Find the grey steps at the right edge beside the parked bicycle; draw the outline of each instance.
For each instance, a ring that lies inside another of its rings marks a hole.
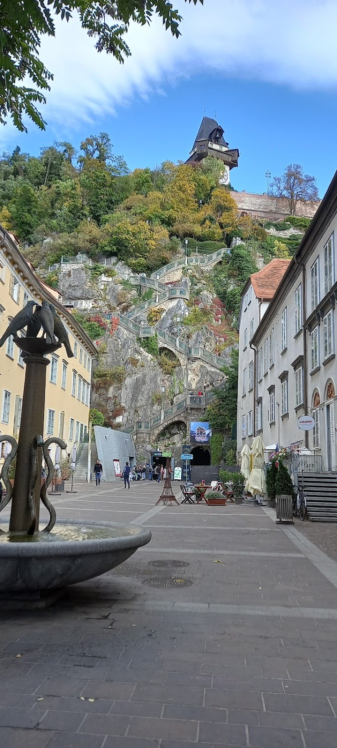
[[[308,519],[337,522],[337,473],[303,473]]]

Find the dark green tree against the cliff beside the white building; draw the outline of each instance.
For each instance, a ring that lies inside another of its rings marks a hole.
[[[208,405],[207,420],[215,431],[224,432],[231,429],[237,420],[237,373],[239,368],[239,351],[231,351],[231,364],[224,367],[225,387],[215,387],[215,399]]]

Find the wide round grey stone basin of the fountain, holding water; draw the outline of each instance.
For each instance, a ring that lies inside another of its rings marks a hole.
[[[0,590],[60,589],[105,574],[151,540],[151,531],[109,522],[61,522],[49,535],[0,536]]]

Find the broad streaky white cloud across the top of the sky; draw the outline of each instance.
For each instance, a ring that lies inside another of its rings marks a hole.
[[[58,21],[55,39],[41,45],[54,73],[43,111],[49,131],[71,133],[134,96],[163,94],[175,80],[201,71],[291,88],[336,87],[336,0],[176,4],[184,17],[182,37],[173,39],[158,20],[150,28],[133,25],[127,34],[132,57],[124,65],[98,54],[77,19]]]

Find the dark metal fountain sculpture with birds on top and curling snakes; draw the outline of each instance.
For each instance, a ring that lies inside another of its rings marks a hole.
[[[25,336],[19,331],[27,328]],[[38,337],[40,329],[43,333]],[[40,503],[49,512],[49,522],[42,530],[49,533],[55,525],[56,512],[46,496],[46,491],[54,476],[55,468],[49,456],[50,444],[58,444],[62,450],[67,444],[60,438],[51,437],[45,442],[43,432],[44,401],[46,389],[46,355],[55,352],[63,344],[67,355],[73,356],[67,330],[56,313],[54,304],[42,301],[28,301],[28,304],[11,320],[0,339],[0,347],[13,335],[14,343],[23,351],[25,358],[25,388],[22,397],[21,426],[19,443],[9,435],[2,435],[0,441],[8,441],[12,450],[4,460],[1,478],[7,492],[0,502],[0,512],[10,502],[10,533],[33,535],[38,532]],[[12,487],[8,479],[8,469],[16,460],[15,480]],[[46,482],[40,486],[41,463],[44,458],[48,468]],[[0,530],[2,533],[3,530]]]

